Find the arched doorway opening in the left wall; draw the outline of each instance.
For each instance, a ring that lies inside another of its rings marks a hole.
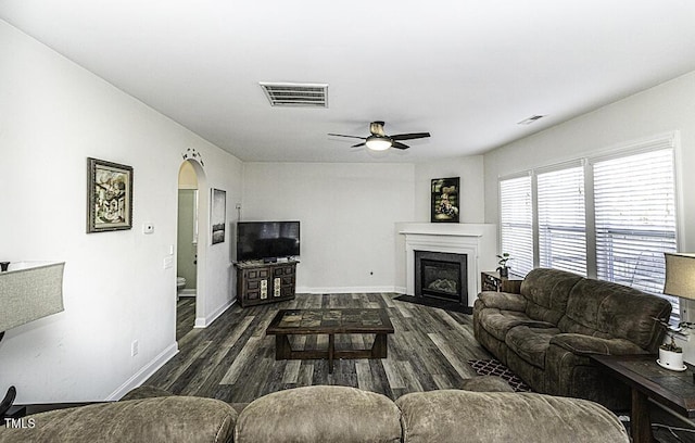
[[[176,340],[204,324],[205,245],[207,244],[207,199],[205,172],[195,160],[181,163],[178,174],[178,233],[176,254]]]

